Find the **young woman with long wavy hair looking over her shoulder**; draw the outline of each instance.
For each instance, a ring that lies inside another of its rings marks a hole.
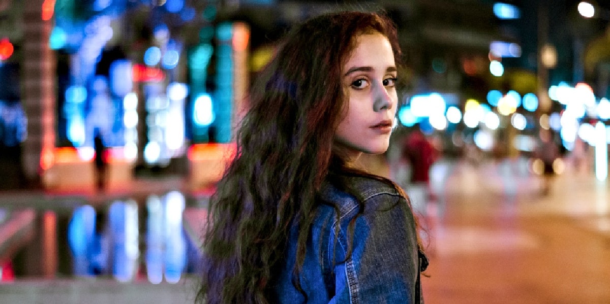
[[[409,201],[356,165],[389,145],[400,54],[377,13],[318,16],[285,38],[210,200],[198,300],[423,302]]]

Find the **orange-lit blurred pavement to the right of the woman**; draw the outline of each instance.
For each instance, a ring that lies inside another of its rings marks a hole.
[[[610,303],[609,182],[567,166],[545,196],[528,165],[437,165],[426,303]]]

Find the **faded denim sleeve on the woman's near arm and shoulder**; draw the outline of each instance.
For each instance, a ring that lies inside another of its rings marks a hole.
[[[403,197],[371,197],[364,212],[351,210],[339,224],[338,238],[329,238],[336,261],[330,303],[420,303],[415,222]]]

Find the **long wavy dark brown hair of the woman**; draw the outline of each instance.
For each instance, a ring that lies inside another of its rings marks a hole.
[[[343,64],[354,38],[374,32],[388,38],[400,62],[387,16],[327,13],[293,29],[253,85],[234,159],[210,198],[198,301],[268,303],[293,225],[303,265],[316,194],[329,172],[367,175],[346,167],[333,139],[346,108]]]

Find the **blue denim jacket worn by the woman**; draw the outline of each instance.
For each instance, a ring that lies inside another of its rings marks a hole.
[[[285,263],[274,283],[273,302],[423,303],[420,268],[425,269],[428,261],[418,250],[414,217],[406,199],[378,180],[346,179],[353,189],[359,189],[356,196],[329,183],[320,191],[328,205],[317,207],[307,240],[298,278],[303,292],[295,287],[298,233],[291,230]],[[364,211],[358,214],[362,206]]]

